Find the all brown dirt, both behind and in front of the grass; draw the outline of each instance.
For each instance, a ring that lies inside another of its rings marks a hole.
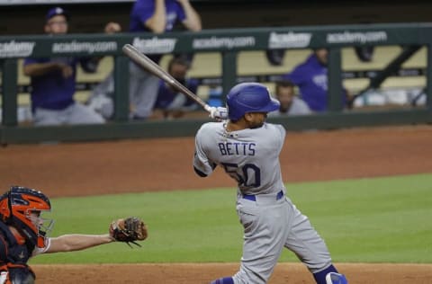
[[[432,173],[432,126],[289,133],[285,182]],[[50,197],[234,186],[221,171],[192,170],[193,138],[122,140],[0,148],[0,188],[43,189]],[[34,265],[39,283],[208,283],[238,263]],[[431,283],[430,264],[344,264],[350,283]],[[299,263],[279,263],[269,282],[314,283]]]

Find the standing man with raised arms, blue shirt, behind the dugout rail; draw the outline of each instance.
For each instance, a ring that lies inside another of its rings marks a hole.
[[[151,32],[161,34],[174,29],[175,22],[182,22],[189,31],[201,31],[199,14],[189,0],[137,0],[130,12],[131,32]],[[161,54],[151,54],[156,63]],[[147,119],[157,100],[159,80],[130,63],[130,106],[131,117],[135,120]]]

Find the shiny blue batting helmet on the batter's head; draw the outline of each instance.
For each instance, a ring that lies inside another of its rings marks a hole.
[[[228,117],[232,121],[241,119],[247,112],[276,111],[279,106],[264,84],[240,83],[227,95]]]

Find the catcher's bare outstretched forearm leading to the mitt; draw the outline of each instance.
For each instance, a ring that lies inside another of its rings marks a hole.
[[[100,244],[108,244],[114,240],[108,234],[106,235],[60,235],[50,240],[50,246],[47,253],[73,252],[85,250]]]

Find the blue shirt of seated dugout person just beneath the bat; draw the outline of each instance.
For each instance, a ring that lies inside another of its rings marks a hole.
[[[198,81],[194,79],[186,79],[186,81],[184,82],[184,86],[192,93],[196,93],[196,90],[198,89]],[[184,97],[184,102],[182,105],[173,105],[173,102],[175,101],[175,97],[177,95]],[[169,86],[165,84],[164,81],[160,81],[159,90],[157,92],[157,100],[155,102],[155,108],[166,110],[175,107],[189,107],[194,104],[196,104],[196,102],[193,101],[191,98],[184,96],[183,93],[173,91]]]

